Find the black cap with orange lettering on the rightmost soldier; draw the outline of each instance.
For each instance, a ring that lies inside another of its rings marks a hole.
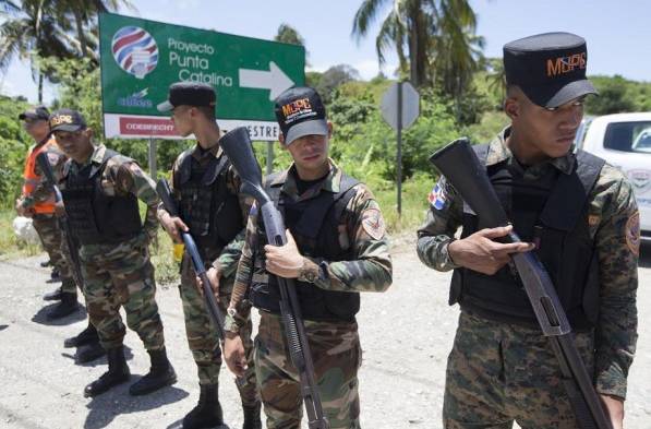
[[[506,83],[539,106],[554,108],[596,94],[586,78],[586,40],[571,33],[545,33],[504,45]]]

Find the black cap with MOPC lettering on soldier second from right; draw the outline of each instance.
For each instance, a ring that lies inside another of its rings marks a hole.
[[[309,86],[289,88],[276,98],[276,120],[285,145],[305,135],[328,135],[328,122],[321,96]]]

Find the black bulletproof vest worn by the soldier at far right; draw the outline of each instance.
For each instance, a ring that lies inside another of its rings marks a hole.
[[[474,146],[484,166],[487,148]],[[548,168],[542,178],[527,180],[506,162],[486,167],[514,229],[522,240],[537,243],[534,252],[550,274],[575,330],[590,329],[598,318],[598,255],[587,210],[588,196],[603,165],[603,159],[579,151],[570,175]],[[465,205],[461,238],[484,227]],[[521,281],[510,264],[491,276],[455,270],[450,305],[455,302],[489,319],[537,324]]]

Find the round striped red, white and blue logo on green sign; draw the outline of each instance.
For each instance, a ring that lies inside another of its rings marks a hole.
[[[141,27],[122,27],[113,35],[111,50],[116,62],[126,73],[143,79],[158,63],[158,46]]]

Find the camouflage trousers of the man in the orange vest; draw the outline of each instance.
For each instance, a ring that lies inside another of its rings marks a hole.
[[[68,260],[64,258],[61,243],[63,240],[61,228],[59,227],[59,221],[53,214],[35,214],[32,217],[32,224],[34,229],[38,233],[43,248],[48,253],[51,264],[56,267],[61,278],[61,290],[70,294],[76,294],[76,286],[72,282],[72,274]]]

